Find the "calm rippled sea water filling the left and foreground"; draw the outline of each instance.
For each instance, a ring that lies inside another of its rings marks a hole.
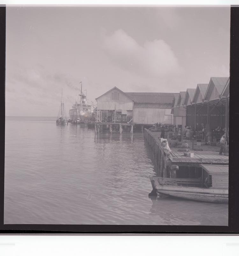
[[[228,205],[148,198],[142,133],[6,117],[4,224],[228,225]]]

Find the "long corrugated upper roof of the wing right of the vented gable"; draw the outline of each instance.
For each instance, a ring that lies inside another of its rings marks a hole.
[[[126,92],[136,103],[172,103],[172,92]]]

